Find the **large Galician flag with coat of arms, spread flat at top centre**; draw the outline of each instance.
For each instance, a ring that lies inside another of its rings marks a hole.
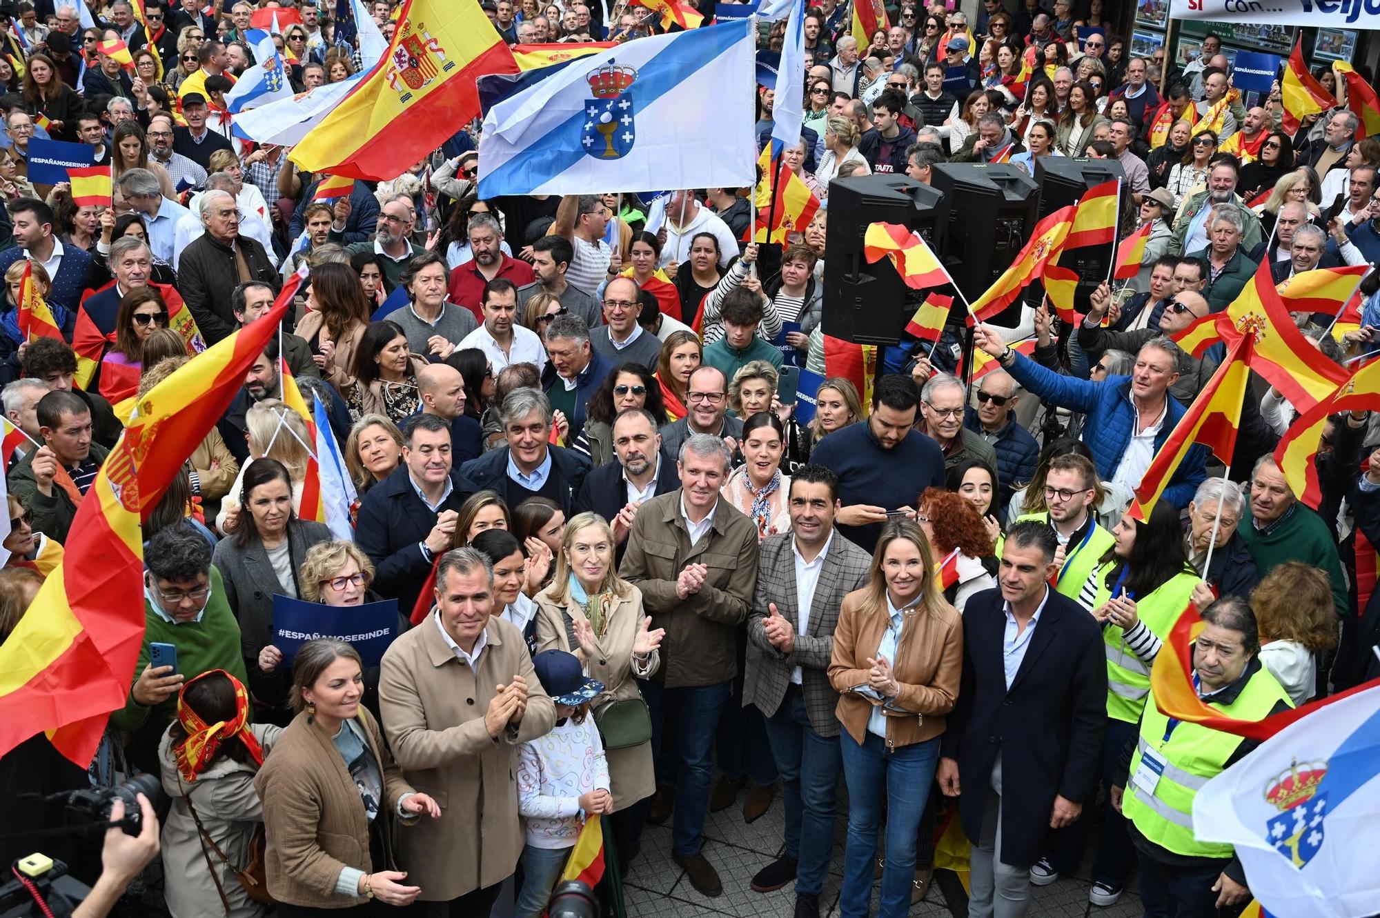
[[[701,26],[480,77],[480,98],[497,95],[480,197],[752,185],[752,28]]]

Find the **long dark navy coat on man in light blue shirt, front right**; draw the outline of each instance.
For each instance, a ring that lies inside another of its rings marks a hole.
[[[963,681],[943,737],[958,759],[959,817],[977,839],[998,754],[1002,769],[1002,863],[1045,856],[1054,797],[1093,802],[1107,731],[1107,664],[1096,619],[1049,590],[1025,657],[1006,688],[1000,590],[984,590],[963,611]],[[1010,753],[1010,755],[1005,755]]]

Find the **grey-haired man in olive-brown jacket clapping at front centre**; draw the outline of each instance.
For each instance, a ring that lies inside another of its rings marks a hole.
[[[758,582],[758,529],[719,498],[731,456],[723,440],[693,434],[680,447],[680,488],[642,504],[620,573],[642,590],[651,627],[665,629],[661,669],[642,682],[651,711],[651,754],[676,711],[672,857],[705,896],[723,885],[700,853],[709,809],[713,736],[737,675],[737,631]]]

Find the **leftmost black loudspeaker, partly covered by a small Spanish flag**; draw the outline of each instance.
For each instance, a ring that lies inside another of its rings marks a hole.
[[[829,223],[824,247],[824,334],[856,345],[896,345],[909,316],[890,259],[869,265],[862,237],[871,223],[915,230],[944,258],[948,200],[907,175],[860,175],[829,182]],[[914,313],[914,307],[911,310]]]

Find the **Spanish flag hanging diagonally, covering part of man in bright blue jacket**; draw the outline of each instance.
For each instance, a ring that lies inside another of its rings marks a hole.
[[[1136,500],[1127,510],[1133,520],[1150,520],[1159,496],[1194,444],[1208,447],[1225,465],[1231,465],[1236,430],[1241,427],[1241,407],[1250,383],[1250,338],[1236,339],[1212,379],[1194,398],[1194,404],[1188,405],[1188,411],[1174,425],[1165,445],[1155,453],[1136,488]]]

